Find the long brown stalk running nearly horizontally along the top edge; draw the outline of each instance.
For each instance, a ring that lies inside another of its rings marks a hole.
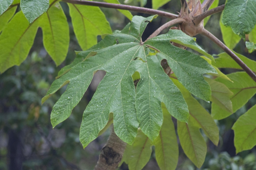
[[[152,15],[157,14],[159,16],[167,17],[170,19],[178,18],[178,15],[172,14],[170,12],[153,10],[153,9],[143,8],[143,7],[138,7],[138,6],[123,5],[123,4],[111,4],[111,3],[96,2],[96,1],[81,1],[81,0],[62,0],[62,1],[66,2],[66,3],[71,3],[71,4],[99,6],[99,7],[105,7],[105,8],[115,8],[115,9],[121,9],[121,10],[129,10],[129,11],[147,13],[147,14],[152,14]]]

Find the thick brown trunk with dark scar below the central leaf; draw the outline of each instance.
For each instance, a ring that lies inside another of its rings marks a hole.
[[[115,170],[121,162],[126,143],[114,132],[113,124],[107,143],[103,146],[94,170]]]

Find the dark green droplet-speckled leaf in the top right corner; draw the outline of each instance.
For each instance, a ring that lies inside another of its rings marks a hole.
[[[222,23],[231,27],[237,35],[245,37],[256,24],[256,1],[228,0],[223,11]]]

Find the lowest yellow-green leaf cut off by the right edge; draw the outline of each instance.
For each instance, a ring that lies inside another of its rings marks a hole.
[[[236,153],[252,149],[256,145],[256,105],[240,116],[232,129]]]

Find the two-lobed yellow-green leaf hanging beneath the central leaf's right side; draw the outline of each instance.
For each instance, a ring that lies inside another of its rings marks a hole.
[[[211,115],[191,96],[187,89],[178,80],[172,81],[182,92],[188,104],[189,119],[188,124],[178,122],[178,135],[182,149],[188,158],[200,168],[206,155],[206,143],[199,128],[202,128],[205,135],[217,146],[219,143],[219,130]]]

